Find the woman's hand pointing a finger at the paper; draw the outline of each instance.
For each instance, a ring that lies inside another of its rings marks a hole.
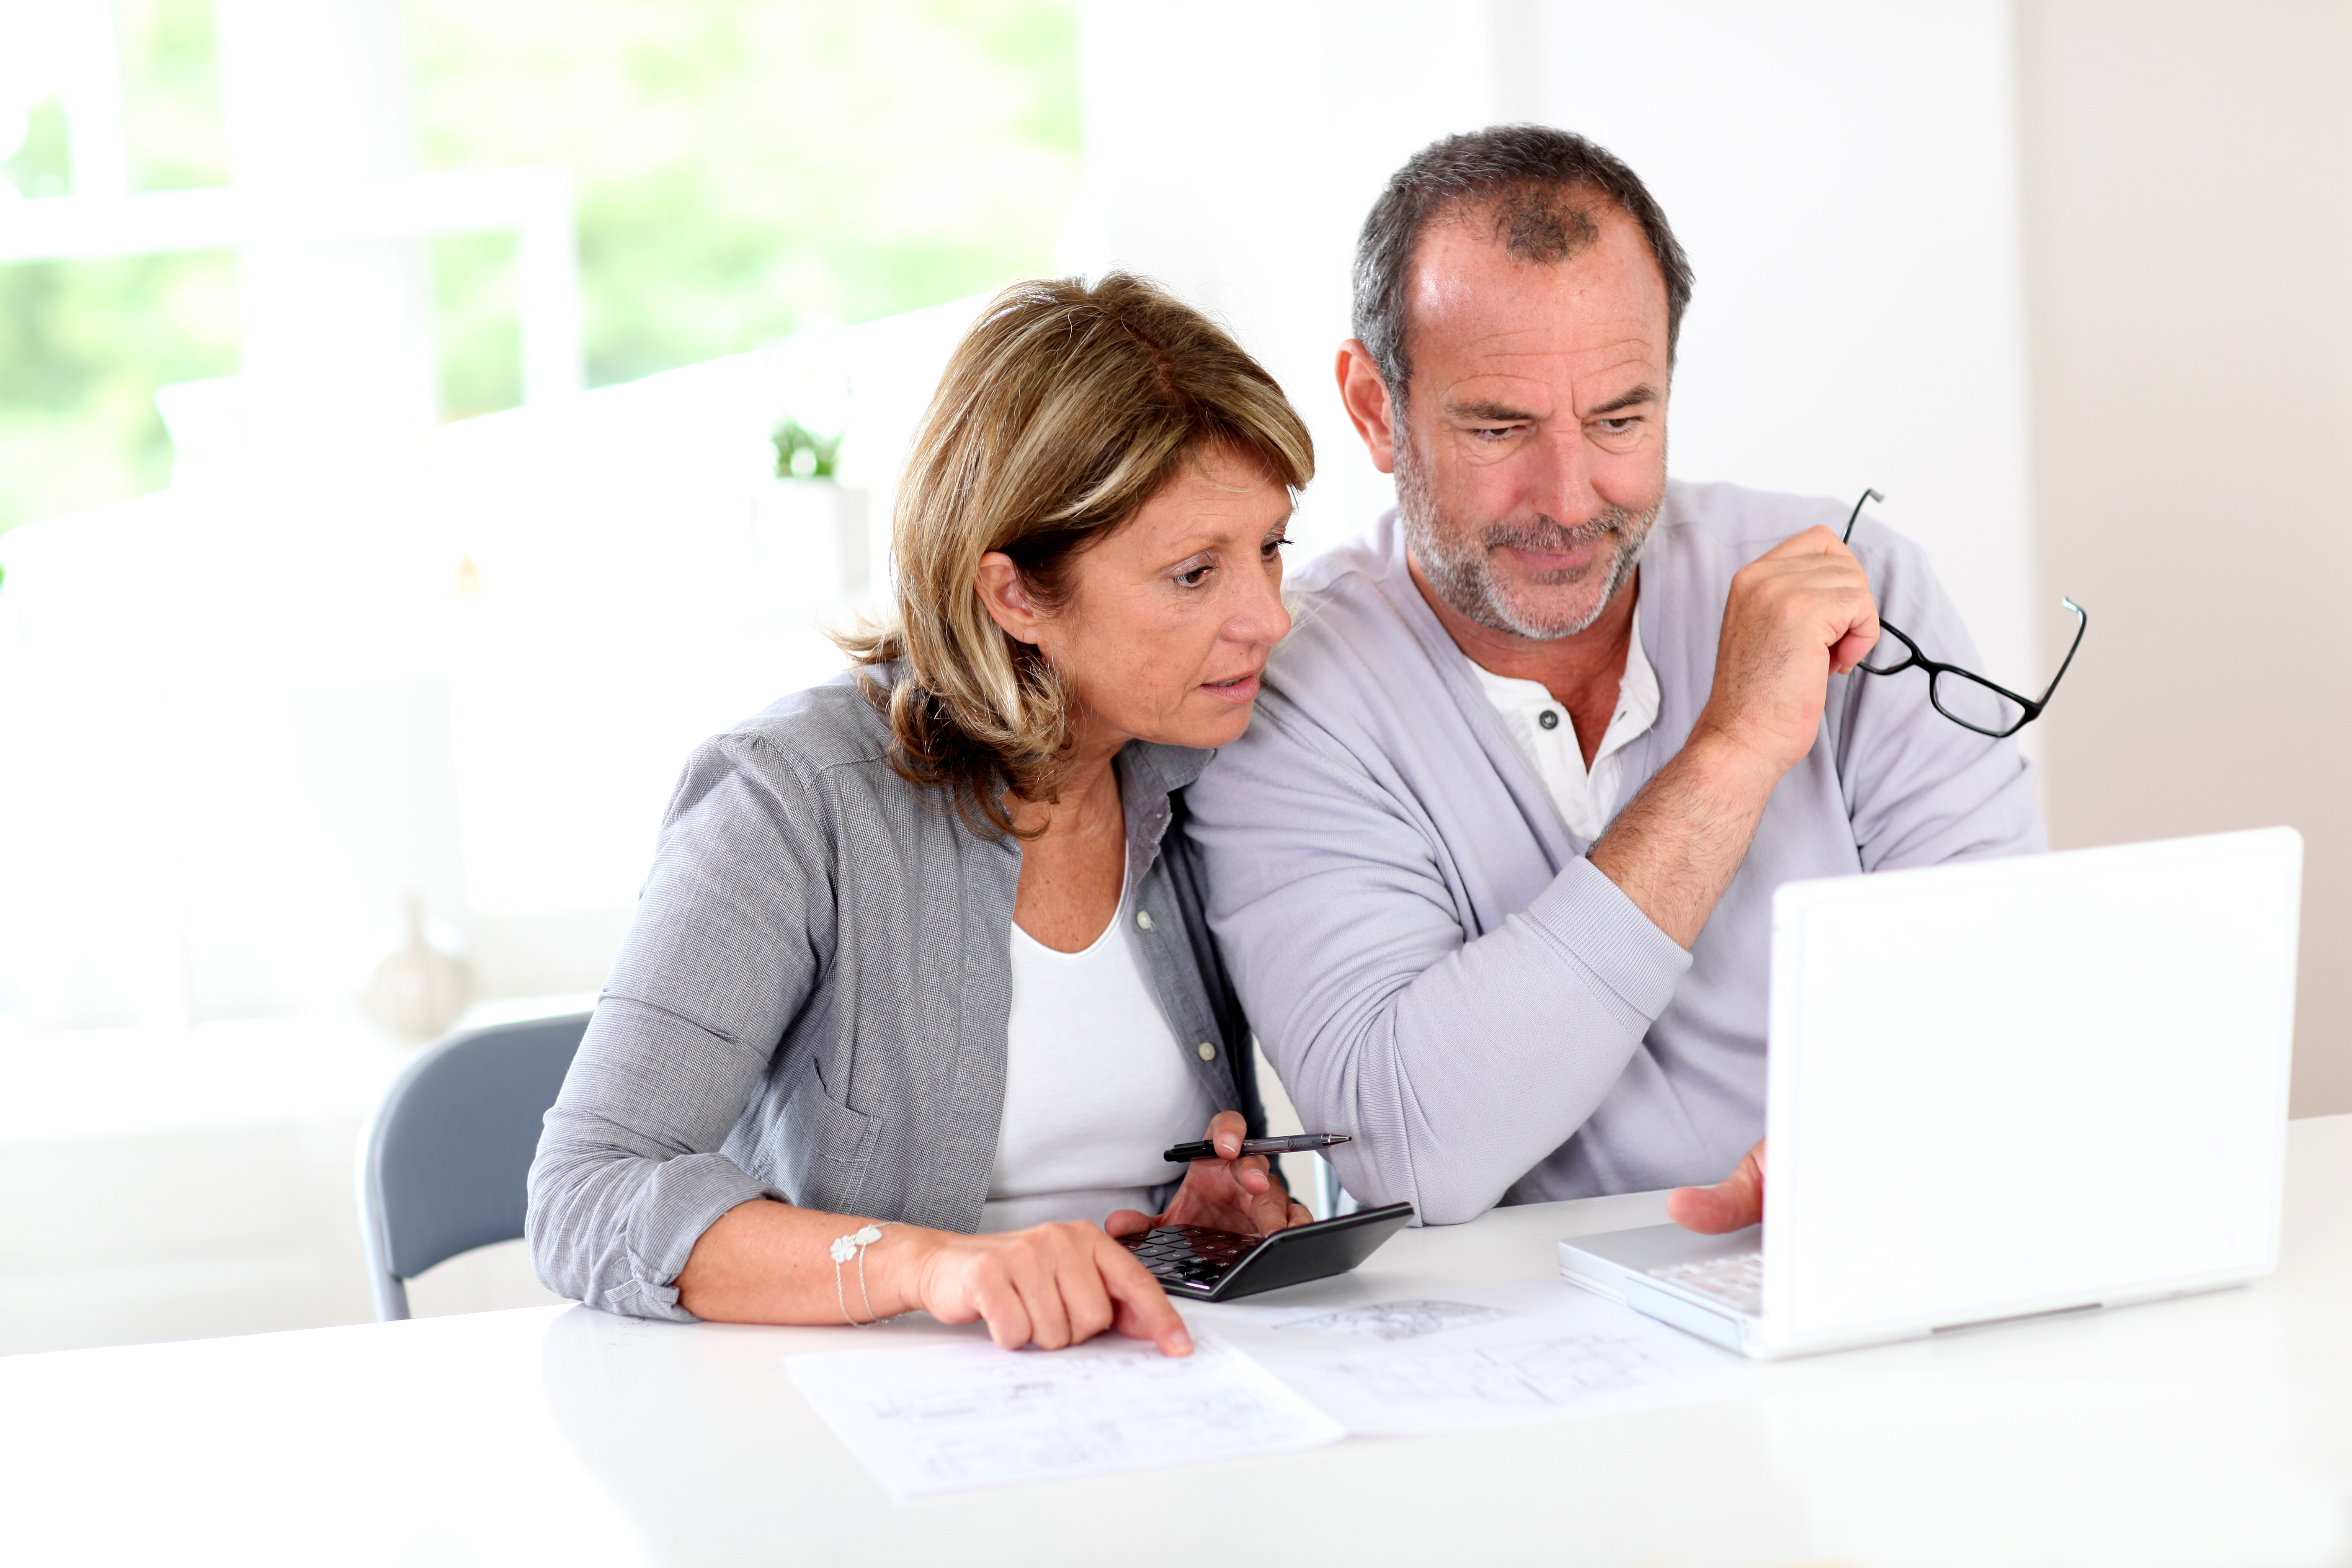
[[[901,1248],[889,1258],[884,1246],[894,1234]],[[882,1237],[873,1262],[889,1267],[896,1300],[941,1324],[988,1319],[988,1338],[1004,1349],[1061,1349],[1115,1328],[1169,1356],[1192,1354],[1192,1335],[1160,1281],[1096,1225],[1033,1225],[990,1237],[891,1227]]]

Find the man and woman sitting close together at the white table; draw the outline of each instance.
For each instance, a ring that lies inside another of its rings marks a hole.
[[[1115,1237],[1308,1218],[1237,1157],[1251,1037],[1367,1204],[1752,1222],[1773,886],[2042,825],[2009,741],[1853,670],[1879,607],[1973,658],[1917,548],[1665,477],[1689,296],[1590,141],[1421,150],[1338,353],[1397,510],[1284,592],[1275,381],[1134,277],[1007,289],[915,437],[898,614],[687,764],[532,1166],[541,1279],[1181,1354]]]

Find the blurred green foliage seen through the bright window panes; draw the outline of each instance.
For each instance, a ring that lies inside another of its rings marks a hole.
[[[572,169],[590,386],[1040,273],[1077,190],[1068,0],[402,12],[419,169]],[[115,21],[132,188],[226,183],[212,0]],[[0,179],[64,195],[64,108],[24,129]],[[442,416],[520,402],[513,237],[430,256]],[[235,256],[0,266],[0,529],[169,484],[155,388],[235,371]]]

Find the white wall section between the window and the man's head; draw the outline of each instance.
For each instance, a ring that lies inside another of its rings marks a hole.
[[[1056,263],[1218,313],[1315,433],[1296,538],[1355,534],[1392,501],[1331,390],[1355,230],[1414,148],[1494,118],[1486,9],[1087,0],[1080,21],[1087,183]]]

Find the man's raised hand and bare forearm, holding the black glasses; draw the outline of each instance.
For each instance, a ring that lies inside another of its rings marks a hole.
[[[1642,785],[1588,860],[1689,947],[1748,858],[1780,776],[1813,750],[1830,675],[1877,646],[1870,578],[1830,529],[1740,567],[1724,602],[1715,689],[1682,750]]]

